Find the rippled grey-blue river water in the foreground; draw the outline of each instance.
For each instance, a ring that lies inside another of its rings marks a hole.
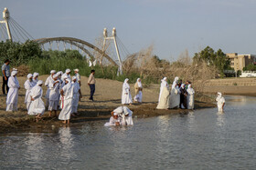
[[[0,169],[255,169],[256,98],[217,108],[0,135]]]

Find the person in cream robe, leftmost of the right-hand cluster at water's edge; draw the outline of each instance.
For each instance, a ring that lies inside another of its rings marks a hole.
[[[169,101],[170,101],[170,91],[169,85],[166,82],[167,78],[165,77],[162,79],[161,87],[160,87],[160,95],[158,99],[158,105],[156,109],[168,109],[169,108]]]

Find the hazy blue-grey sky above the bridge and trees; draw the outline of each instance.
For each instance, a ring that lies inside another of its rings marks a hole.
[[[70,36],[91,44],[116,27],[130,54],[154,45],[174,61],[207,45],[256,55],[256,0],[0,0],[35,39]]]

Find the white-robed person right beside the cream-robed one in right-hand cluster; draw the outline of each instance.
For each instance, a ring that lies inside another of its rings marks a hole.
[[[180,103],[180,91],[177,85],[178,77],[176,76],[172,89],[171,89],[171,96],[170,96],[170,105],[169,108],[179,108]]]

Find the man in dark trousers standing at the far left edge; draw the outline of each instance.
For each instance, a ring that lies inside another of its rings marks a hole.
[[[2,65],[2,75],[3,75],[3,85],[2,85],[2,90],[3,90],[3,95],[6,95],[9,91],[8,87],[8,78],[10,76],[10,60],[6,59],[5,64]],[[5,86],[6,86],[6,93],[5,93]]]

